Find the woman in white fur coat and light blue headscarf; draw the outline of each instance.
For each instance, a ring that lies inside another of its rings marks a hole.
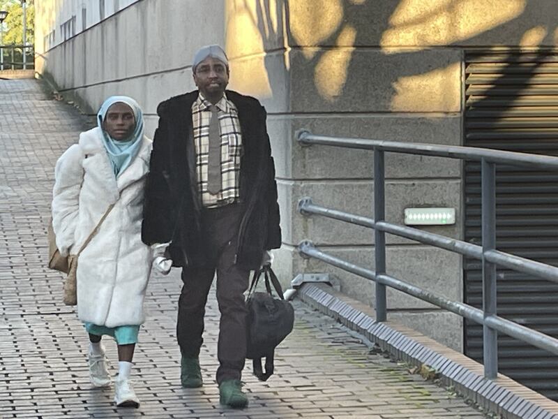
[[[66,256],[100,223],[77,263],[77,316],[89,333],[89,376],[96,387],[110,385],[101,337],[113,337],[119,356],[114,402],[137,407],[130,370],[153,257],[140,237],[151,140],[140,106],[126,96],[108,98],[97,123],[56,163],[52,226]]]

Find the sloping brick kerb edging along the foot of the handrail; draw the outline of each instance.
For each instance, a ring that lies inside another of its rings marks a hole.
[[[492,381],[483,365],[398,322],[377,322],[374,309],[331,286],[303,284],[296,295],[313,309],[377,344],[393,358],[414,367],[426,365],[444,385],[504,419],[558,419],[558,403],[508,376]]]

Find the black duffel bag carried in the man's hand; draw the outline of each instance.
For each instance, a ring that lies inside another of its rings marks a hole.
[[[255,292],[259,277],[264,275],[266,291]],[[274,298],[271,284],[279,298]],[[248,347],[246,358],[252,360],[253,373],[259,381],[266,381],[273,374],[273,355],[275,348],[289,335],[294,325],[294,309],[285,301],[281,285],[271,266],[264,265],[254,272],[248,297]],[[265,372],[262,371],[262,358],[266,358]]]

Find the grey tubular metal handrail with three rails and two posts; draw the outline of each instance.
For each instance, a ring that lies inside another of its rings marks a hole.
[[[374,214],[375,218],[349,214],[340,210],[322,207],[312,203],[310,198],[299,201],[299,212],[303,215],[315,214],[347,223],[373,228],[375,231],[375,267],[376,270],[354,265],[340,258],[328,255],[317,249],[312,242],[299,244],[302,256],[317,258],[330,265],[340,267],[361,277],[371,279],[376,284],[376,320],[386,321],[386,286],[412,295],[420,300],[435,304],[437,307],[469,318],[483,325],[483,360],[486,378],[496,378],[498,373],[497,332],[515,337],[538,348],[558,355],[558,339],[536,330],[526,328],[513,321],[506,320],[496,314],[496,265],[512,270],[533,274],[536,277],[558,283],[558,267],[539,263],[534,260],[505,253],[495,249],[496,243],[496,163],[531,168],[558,170],[558,157],[540,156],[517,152],[506,152],[495,149],[477,149],[474,147],[443,146],[433,144],[415,144],[365,138],[337,138],[326,135],[315,135],[310,131],[301,130],[296,133],[297,140],[303,146],[329,145],[333,147],[371,149],[374,151]],[[483,245],[477,246],[455,240],[451,237],[425,232],[417,228],[401,226],[384,220],[385,215],[385,168],[384,152],[418,154],[425,156],[446,157],[481,161],[481,201],[482,201],[482,237]],[[386,274],[386,242],[385,233],[406,237],[424,244],[460,253],[482,261],[483,264],[483,309],[476,309],[462,302],[448,300],[442,295],[431,293],[405,281]]]

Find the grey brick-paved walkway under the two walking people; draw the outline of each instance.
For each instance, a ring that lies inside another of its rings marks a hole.
[[[90,123],[52,101],[34,80],[0,80],[0,417],[1,418],[483,418],[459,397],[370,351],[330,318],[294,302],[294,332],[280,346],[276,375],[244,374],[250,406],[218,403],[218,311],[212,294],[201,362],[205,385],[179,385],[175,341],[179,272],[154,277],[149,321],[134,374],[140,409],[112,404],[92,389],[87,340],[75,312],[60,302],[61,277],[45,269],[56,158]],[[117,367],[116,348],[105,345]]]

